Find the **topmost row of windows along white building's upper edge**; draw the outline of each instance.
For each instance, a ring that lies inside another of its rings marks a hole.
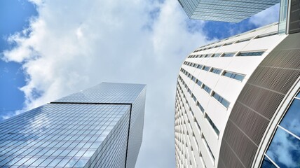
[[[246,32],[246,33],[247,33],[247,32]],[[263,38],[263,37],[267,37],[267,36],[273,36],[273,35],[276,35],[276,34],[278,34],[277,31],[276,31],[276,32],[272,32],[272,33],[268,33],[268,34],[261,34],[261,35],[254,36],[254,37],[251,37],[251,38],[244,38],[244,39],[240,39],[240,40],[238,40],[238,41],[233,41],[233,42],[229,42],[229,43],[218,44],[218,45],[210,46],[210,47],[208,47],[208,48],[203,48],[203,47],[207,46],[207,45],[204,45],[204,46],[200,47],[199,49],[194,50],[193,52],[198,52],[198,51],[203,51],[203,50],[209,50],[209,49],[211,49],[211,48],[218,48],[218,47],[221,47],[221,46],[224,46],[224,45],[230,45],[230,44],[234,44],[234,43],[241,43],[241,42],[245,42],[245,41],[250,41],[250,40],[252,40],[252,39]],[[233,36],[232,38],[236,38],[236,37],[237,37],[237,36]],[[223,41],[227,41],[227,40],[229,40],[229,39],[230,39],[230,38],[226,38],[226,39],[224,39]],[[215,42],[215,43],[219,43],[219,42],[221,42],[221,41],[217,41],[217,42]],[[212,44],[214,44],[214,43],[212,43]],[[208,45],[212,45],[212,44],[208,44]]]

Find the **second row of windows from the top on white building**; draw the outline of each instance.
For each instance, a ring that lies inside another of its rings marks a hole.
[[[261,56],[264,54],[264,51],[255,51],[255,52],[221,52],[214,54],[204,54],[204,55],[189,55],[188,58],[200,58],[200,57],[245,57],[245,56]]]

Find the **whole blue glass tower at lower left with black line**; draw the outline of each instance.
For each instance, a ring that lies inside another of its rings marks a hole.
[[[101,83],[0,123],[0,167],[135,167],[146,86]]]

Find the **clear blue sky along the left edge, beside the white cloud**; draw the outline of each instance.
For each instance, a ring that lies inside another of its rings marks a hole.
[[[15,32],[29,26],[29,18],[37,15],[34,4],[28,1],[0,1],[0,52],[13,48],[6,39]],[[23,108],[25,95],[18,88],[25,85],[22,64],[4,62],[0,59],[0,110],[1,116],[11,116],[15,110]],[[2,117],[0,117],[0,120]]]

